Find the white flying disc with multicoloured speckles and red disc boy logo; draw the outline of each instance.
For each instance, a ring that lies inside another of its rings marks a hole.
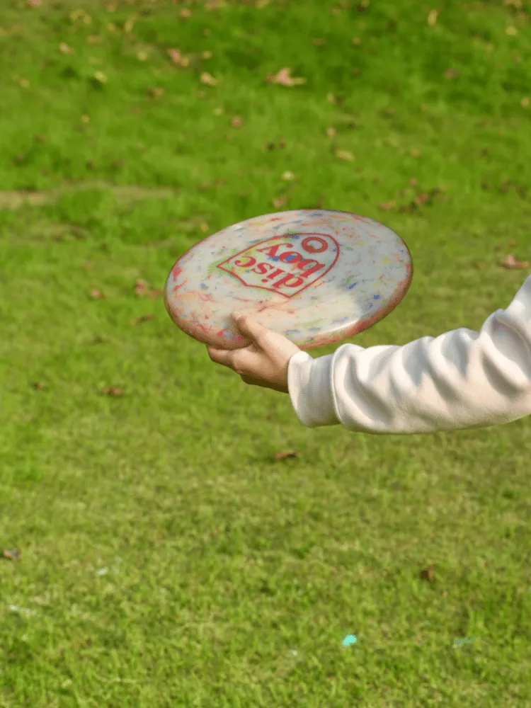
[[[392,312],[413,264],[404,241],[367,217],[296,210],[248,219],[186,251],[166,280],[166,309],[196,340],[249,344],[239,310],[307,350],[347,339]]]

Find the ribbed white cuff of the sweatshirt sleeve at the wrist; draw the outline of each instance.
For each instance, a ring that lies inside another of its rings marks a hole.
[[[333,403],[331,367],[333,354],[312,358],[299,351],[287,368],[287,388],[297,418],[307,428],[340,423]]]

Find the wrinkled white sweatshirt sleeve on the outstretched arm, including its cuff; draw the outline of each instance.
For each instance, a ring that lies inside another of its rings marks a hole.
[[[288,389],[309,428],[411,435],[488,428],[531,414],[531,276],[479,332],[456,329],[404,346],[343,344],[290,359]]]

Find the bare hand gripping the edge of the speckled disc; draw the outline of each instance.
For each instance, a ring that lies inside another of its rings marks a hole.
[[[228,366],[252,386],[263,386],[287,394],[287,365],[299,347],[289,339],[266,329],[256,319],[233,312],[232,319],[239,332],[251,341],[241,349],[226,350],[207,346],[212,361]]]

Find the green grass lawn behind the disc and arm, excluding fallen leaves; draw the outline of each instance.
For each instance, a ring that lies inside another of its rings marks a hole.
[[[134,287],[284,198],[408,244],[357,343],[478,329],[531,258],[530,6],[206,5],[2,3],[0,706],[531,706],[530,421],[304,428]]]

